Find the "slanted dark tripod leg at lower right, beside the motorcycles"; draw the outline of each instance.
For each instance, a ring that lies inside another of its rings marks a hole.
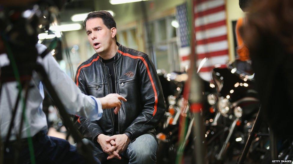
[[[248,136],[248,139],[246,141],[244,150],[243,150],[243,152],[241,154],[241,157],[240,157],[240,160],[239,160],[238,164],[244,163],[246,155],[247,155],[248,150],[249,150],[249,147],[250,147],[250,145],[251,145],[251,143],[252,143],[252,141],[254,139],[254,136],[259,131],[259,128],[261,126],[261,122],[262,122],[262,116],[261,116],[261,107],[260,107],[259,110],[258,110],[258,114],[257,114],[257,116],[255,118],[255,122],[253,124],[253,127],[251,129],[251,132],[250,132],[250,134]]]

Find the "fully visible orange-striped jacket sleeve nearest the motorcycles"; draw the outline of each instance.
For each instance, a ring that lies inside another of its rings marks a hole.
[[[165,114],[162,86],[153,62],[146,56],[140,65],[140,96],[143,109],[125,132],[131,140],[156,128]]]

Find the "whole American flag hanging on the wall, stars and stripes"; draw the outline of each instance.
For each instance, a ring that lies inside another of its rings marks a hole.
[[[186,4],[177,6],[177,20],[181,45],[178,51],[181,67],[184,67],[190,63]],[[201,66],[199,75],[211,81],[213,68],[224,68],[228,60],[225,0],[195,0],[194,21],[197,66]],[[203,60],[206,62],[203,63]]]

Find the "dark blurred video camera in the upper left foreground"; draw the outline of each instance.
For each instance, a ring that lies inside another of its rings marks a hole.
[[[5,52],[8,54],[10,64],[1,68],[2,81],[15,80],[12,65],[17,66],[21,79],[31,76],[38,57],[35,45],[38,34],[49,30],[51,22],[56,21],[58,11],[68,0],[40,0],[29,1],[12,0],[0,6],[0,31]],[[50,48],[50,47],[49,47]],[[48,51],[42,54],[44,57]],[[15,69],[15,68],[14,68]]]

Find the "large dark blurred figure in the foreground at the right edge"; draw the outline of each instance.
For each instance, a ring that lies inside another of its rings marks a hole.
[[[270,130],[278,137],[292,137],[293,1],[254,1],[243,37]]]

